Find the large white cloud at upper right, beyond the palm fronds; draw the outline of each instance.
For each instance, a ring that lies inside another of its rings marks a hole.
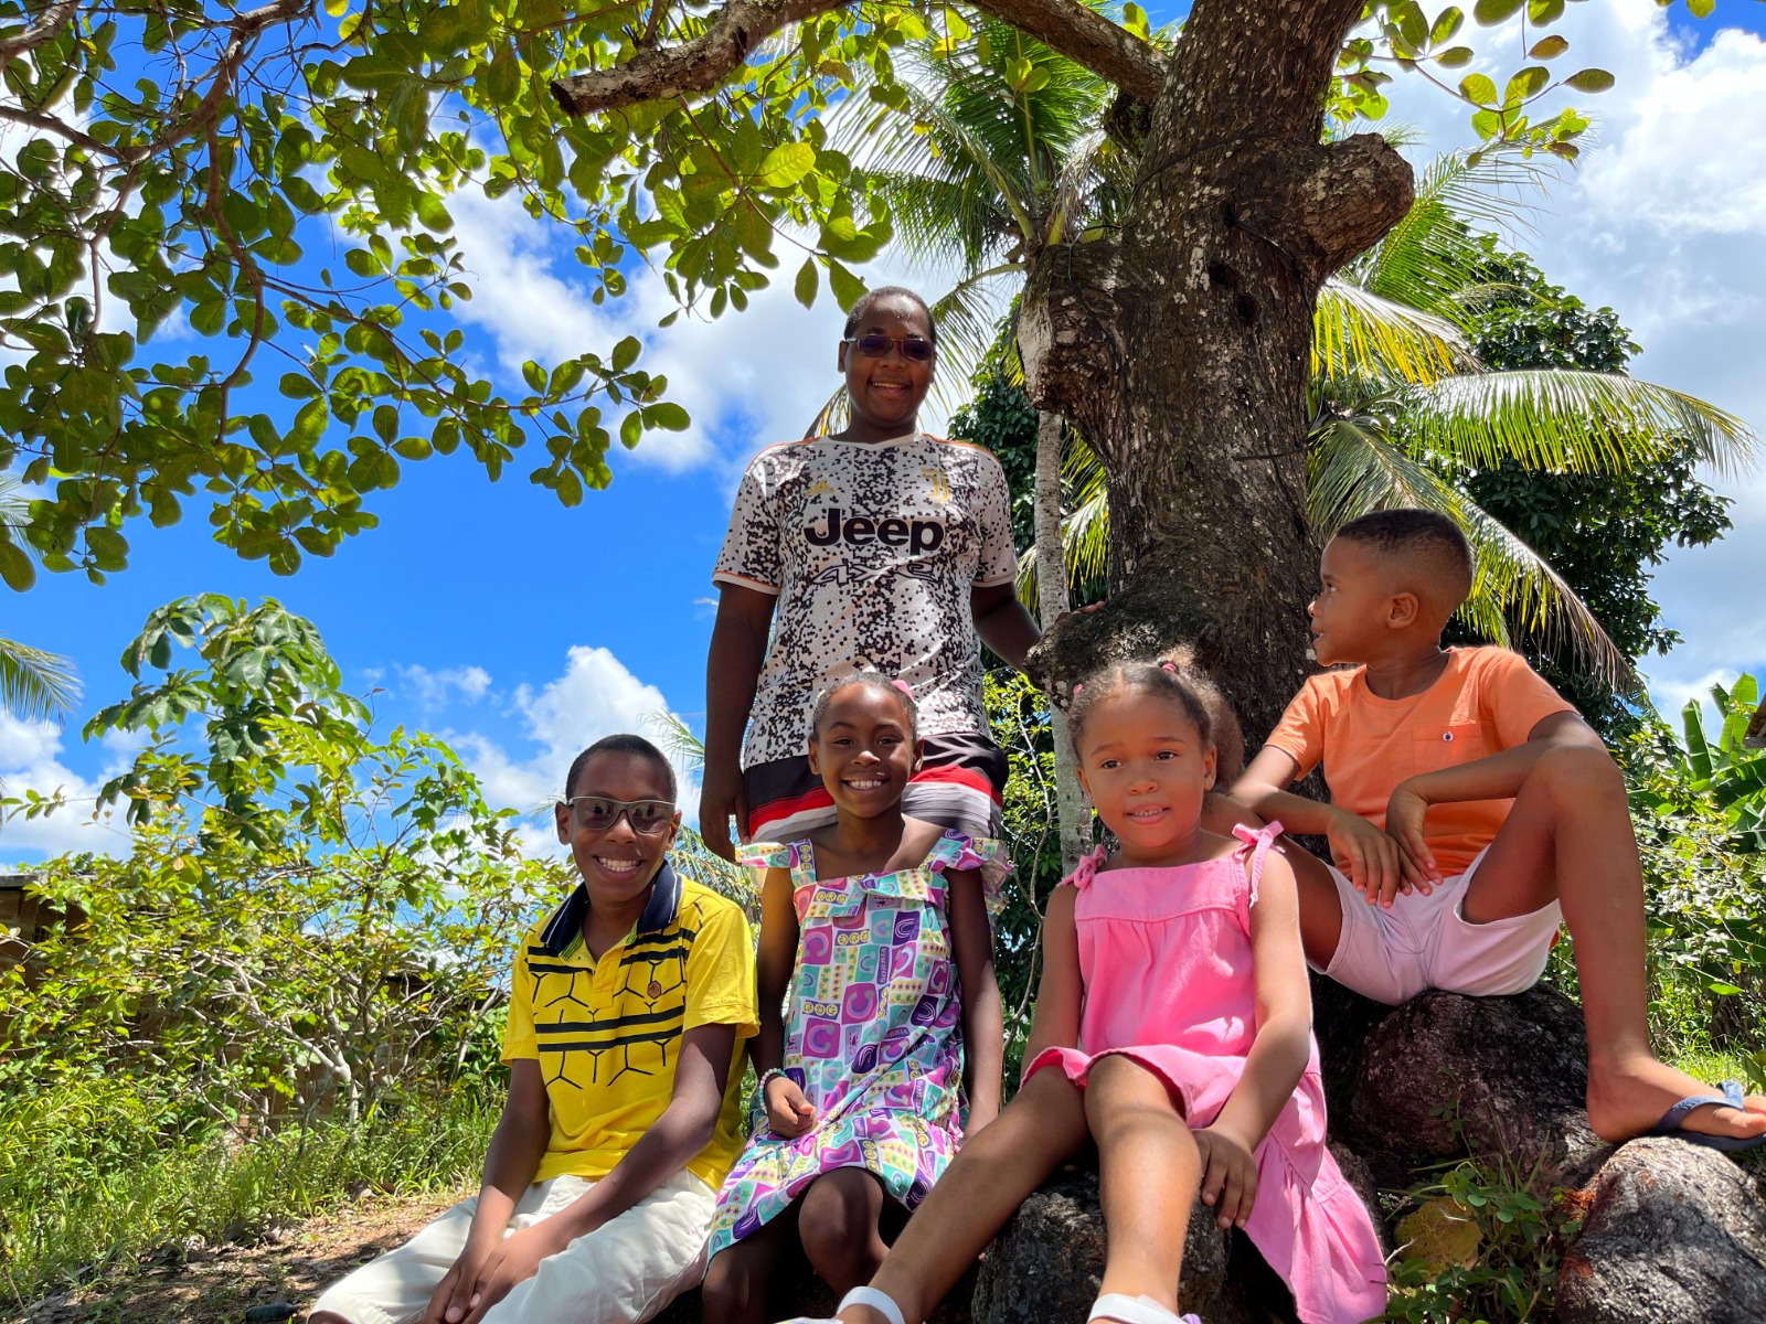
[[[1618,87],[1568,97],[1596,117],[1593,141],[1517,244],[1551,281],[1618,311],[1644,346],[1635,376],[1766,433],[1766,42],[1715,30],[1694,53],[1651,0],[1572,5],[1554,30],[1570,39],[1559,72],[1596,65]],[[1485,53],[1521,49],[1512,26],[1475,35]],[[1413,159],[1476,141],[1466,108],[1422,79],[1400,78],[1388,92],[1393,120],[1429,134]],[[1685,637],[1648,664],[1671,708],[1715,674],[1766,664],[1766,478],[1755,470],[1708,480],[1736,498],[1734,531],[1717,547],[1671,549],[1653,588],[1664,620]]]

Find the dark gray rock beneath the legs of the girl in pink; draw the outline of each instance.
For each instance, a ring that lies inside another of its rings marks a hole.
[[[1226,1301],[1231,1241],[1201,1200],[1183,1245],[1178,1301],[1208,1324],[1241,1319]],[[994,1237],[975,1283],[975,1324],[1083,1324],[1104,1278],[1104,1211],[1097,1172],[1065,1172],[1038,1190]]]

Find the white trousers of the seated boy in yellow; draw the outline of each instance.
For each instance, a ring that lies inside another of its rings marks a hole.
[[[533,1183],[503,1236],[549,1218],[593,1185],[588,1177]],[[464,1250],[477,1207],[477,1195],[461,1200],[328,1289],[313,1310],[351,1324],[417,1319]],[[540,1260],[539,1273],[491,1306],[484,1324],[641,1324],[699,1285],[715,1207],[717,1192],[685,1169],[676,1172],[618,1218]]]

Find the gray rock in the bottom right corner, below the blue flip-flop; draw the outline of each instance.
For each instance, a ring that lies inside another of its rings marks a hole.
[[[1766,1320],[1766,1202],[1724,1155],[1632,1140],[1591,1195],[1558,1273],[1559,1324]]]

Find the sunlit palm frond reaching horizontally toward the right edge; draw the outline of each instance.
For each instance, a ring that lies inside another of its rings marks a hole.
[[[1609,372],[1460,374],[1399,387],[1392,404],[1397,436],[1480,468],[1512,457],[1542,470],[1614,473],[1683,441],[1724,475],[1754,463],[1754,433],[1736,415]]]

